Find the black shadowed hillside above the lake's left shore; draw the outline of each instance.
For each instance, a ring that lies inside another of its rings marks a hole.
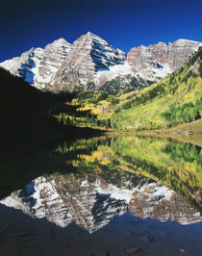
[[[0,68],[0,113],[1,135],[3,139],[54,138],[59,135],[76,133],[76,137],[91,130],[74,128],[59,123],[55,115],[65,109],[73,115],[75,108],[64,103],[72,99],[73,94],[53,94],[41,92]]]

